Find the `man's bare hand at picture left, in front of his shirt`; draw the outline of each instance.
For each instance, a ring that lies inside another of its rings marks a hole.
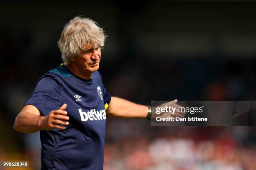
[[[41,128],[44,130],[52,130],[55,128],[64,130],[65,126],[69,125],[69,117],[67,116],[67,104],[62,105],[58,110],[52,110],[49,115],[41,120]]]

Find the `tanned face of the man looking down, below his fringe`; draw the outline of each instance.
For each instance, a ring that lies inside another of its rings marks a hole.
[[[80,56],[72,58],[71,61],[83,74],[92,73],[99,69],[100,55],[100,46],[95,48],[93,45],[84,45]]]

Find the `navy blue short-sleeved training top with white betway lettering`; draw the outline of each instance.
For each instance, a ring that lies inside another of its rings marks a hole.
[[[26,105],[43,115],[67,103],[69,125],[65,130],[41,130],[42,170],[102,170],[106,112],[110,94],[99,72],[82,79],[61,65],[37,82]]]

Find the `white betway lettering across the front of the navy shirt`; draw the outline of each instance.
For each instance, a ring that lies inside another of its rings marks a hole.
[[[91,111],[83,112],[82,109],[78,109],[82,122],[86,122],[89,120],[102,120],[106,119],[105,110],[96,111],[95,109],[91,109]]]

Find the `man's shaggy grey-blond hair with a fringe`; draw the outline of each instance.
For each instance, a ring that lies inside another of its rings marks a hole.
[[[69,58],[79,55],[84,45],[103,47],[105,37],[103,29],[94,20],[75,17],[64,26],[58,41],[62,60],[69,63]]]

